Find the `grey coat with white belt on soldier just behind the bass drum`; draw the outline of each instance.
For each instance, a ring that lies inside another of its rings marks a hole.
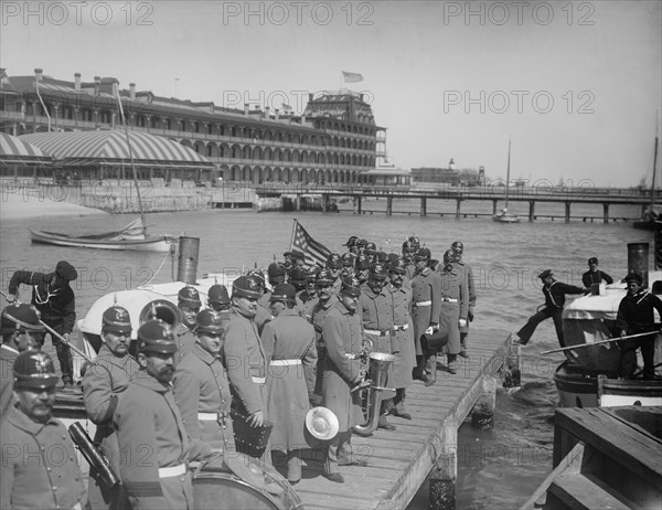
[[[234,451],[232,395],[221,359],[196,343],[178,365],[173,383],[174,402],[189,437]],[[199,419],[197,413],[217,414],[218,419]]]

